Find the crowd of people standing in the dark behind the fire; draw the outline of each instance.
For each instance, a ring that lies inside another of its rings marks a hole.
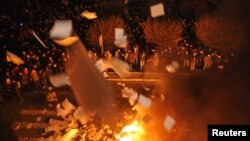
[[[1,52],[8,50],[8,48],[14,48],[13,50],[20,52],[18,55],[25,62],[23,65],[15,65],[10,62],[7,63],[5,69],[6,75],[3,77],[5,80],[2,81],[4,83],[1,84],[1,91],[12,93],[11,91],[13,90],[16,91],[29,86],[44,89],[50,87],[48,76],[64,72],[63,64],[69,57],[67,48],[57,46],[48,38],[49,30],[54,21],[56,19],[71,18],[74,23],[75,32],[79,35],[80,39],[86,43],[86,31],[93,21],[82,19],[79,14],[84,9],[88,9],[90,11],[96,11],[97,14],[102,15],[102,12],[99,11],[98,13],[97,9],[102,9],[103,11],[106,10],[105,12],[108,12],[105,3],[108,3],[108,1],[103,2],[95,0],[85,1],[85,3],[80,1],[75,3],[53,1],[49,3],[49,5],[43,1],[27,1],[23,4],[24,7],[21,9],[21,20],[16,21],[15,19],[12,19],[12,16],[9,15],[9,13],[1,16],[1,20],[5,21],[4,27],[9,27],[10,29],[10,31],[7,31],[8,28],[1,29],[4,36],[0,37],[8,37],[6,40],[9,42],[6,45],[7,47],[1,50]],[[141,1],[134,3],[140,4]],[[129,49],[117,48],[115,50],[106,50],[100,53],[100,51],[91,49],[91,47],[88,46],[88,43],[86,43],[86,47],[89,49],[89,57],[94,62],[101,58],[108,60],[111,57],[116,57],[130,64],[133,68],[132,71],[147,71],[145,65],[151,63],[154,66],[154,71],[161,72],[165,69],[165,66],[169,61],[177,61],[180,66],[183,64],[183,67],[186,68],[185,70],[194,71],[196,69],[216,69],[221,71],[224,69],[225,64],[230,60],[230,57],[232,57],[231,54],[224,55],[214,50],[199,48],[185,40],[181,42],[177,48],[166,48],[164,51],[160,52],[157,50],[157,47],[156,49],[146,49],[148,47],[144,47],[145,39],[142,36],[143,33],[139,26],[139,21],[146,18],[148,15],[145,14],[145,11],[144,14],[140,14],[141,10],[138,10],[138,7],[135,7],[134,3],[129,1],[125,13],[123,10],[120,10],[120,13],[118,14],[120,16],[125,15],[124,20],[129,27],[127,32],[131,34],[129,34],[129,45],[131,47],[129,47]],[[171,2],[169,1],[169,3]],[[143,6],[141,8],[143,8]],[[173,10],[174,8],[170,9]],[[40,12],[41,10],[47,12]],[[11,31],[13,32],[17,30],[21,32],[20,36],[11,33]],[[36,33],[41,38],[41,40],[47,45],[47,48],[46,46],[42,46],[35,39],[31,34],[32,32]],[[187,34],[189,35],[190,33]],[[14,42],[16,44],[11,44]],[[16,92],[16,95],[18,95],[18,92]]]

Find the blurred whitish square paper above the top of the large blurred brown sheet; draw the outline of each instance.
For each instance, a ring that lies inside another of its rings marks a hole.
[[[71,20],[56,20],[50,30],[50,38],[65,39],[70,37],[73,31]]]

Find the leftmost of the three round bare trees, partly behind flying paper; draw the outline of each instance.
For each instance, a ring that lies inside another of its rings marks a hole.
[[[102,35],[104,50],[114,46],[115,28],[125,28],[124,21],[117,16],[110,16],[90,25],[87,31],[87,40],[91,45],[99,46],[99,37]]]

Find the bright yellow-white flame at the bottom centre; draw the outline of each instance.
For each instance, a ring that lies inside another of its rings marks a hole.
[[[143,126],[136,120],[122,128],[120,134],[116,135],[119,141],[140,141],[144,135]]]

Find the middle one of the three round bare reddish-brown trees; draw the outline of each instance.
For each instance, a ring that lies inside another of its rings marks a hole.
[[[176,47],[182,39],[182,21],[159,21],[148,19],[141,23],[144,36],[148,43],[153,43],[164,50],[166,47]]]

